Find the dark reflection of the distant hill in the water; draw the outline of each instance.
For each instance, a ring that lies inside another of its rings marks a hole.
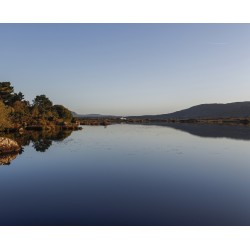
[[[167,126],[200,137],[230,138],[250,140],[250,127],[244,125],[188,124],[188,123],[155,123]]]

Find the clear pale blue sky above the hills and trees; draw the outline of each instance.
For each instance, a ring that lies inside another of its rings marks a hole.
[[[82,114],[250,101],[250,24],[0,24],[0,81]]]

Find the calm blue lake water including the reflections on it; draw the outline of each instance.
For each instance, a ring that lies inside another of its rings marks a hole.
[[[23,153],[0,166],[0,225],[250,225],[248,127],[85,126],[18,140]]]

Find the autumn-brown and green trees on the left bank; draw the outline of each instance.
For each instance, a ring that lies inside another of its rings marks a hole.
[[[53,105],[46,95],[37,95],[33,102],[15,93],[10,82],[0,82],[0,131],[77,130],[79,123],[63,105]]]

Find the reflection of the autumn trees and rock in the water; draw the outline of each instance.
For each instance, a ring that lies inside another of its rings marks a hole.
[[[38,152],[45,152],[48,150],[53,141],[63,141],[70,136],[72,131],[27,131],[24,134],[3,134],[2,136],[15,140],[22,149],[20,152],[0,155],[0,165],[10,165],[18,154],[22,154],[25,146],[29,146],[32,143],[33,148]]]

